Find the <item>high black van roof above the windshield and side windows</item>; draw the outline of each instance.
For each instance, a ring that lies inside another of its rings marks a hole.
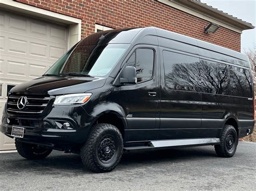
[[[97,32],[79,45],[105,43],[151,44],[250,68],[246,55],[240,52],[152,26]]]

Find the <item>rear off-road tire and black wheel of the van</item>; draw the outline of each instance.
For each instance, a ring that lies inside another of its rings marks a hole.
[[[237,150],[238,136],[237,131],[232,125],[225,125],[220,135],[220,145],[214,145],[219,157],[233,157]]]

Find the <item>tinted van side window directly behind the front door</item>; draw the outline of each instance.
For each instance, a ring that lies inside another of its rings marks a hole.
[[[199,58],[163,51],[165,86],[174,90],[200,91]]]

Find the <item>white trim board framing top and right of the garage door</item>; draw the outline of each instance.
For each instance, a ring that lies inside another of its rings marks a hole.
[[[81,40],[82,31],[82,20],[60,13],[44,10],[41,8],[36,8],[35,6],[11,1],[2,0],[0,2],[0,7],[8,11],[13,11],[16,13],[24,13],[30,16],[36,16],[39,18],[51,20],[53,22],[63,23],[69,25],[69,38],[68,38],[68,49],[75,45]]]

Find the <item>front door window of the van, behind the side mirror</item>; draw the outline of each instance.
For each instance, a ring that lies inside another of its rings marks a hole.
[[[139,48],[133,52],[127,66],[136,67],[137,82],[151,79],[153,75],[154,51],[149,48]]]

